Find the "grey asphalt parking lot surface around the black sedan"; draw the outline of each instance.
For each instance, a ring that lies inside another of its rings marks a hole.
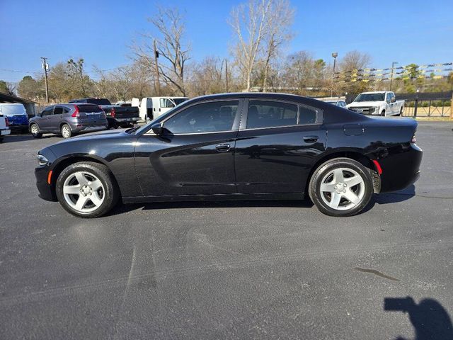
[[[420,122],[420,180],[346,218],[248,201],[79,219],[35,188],[60,138],[7,137],[0,338],[453,339],[452,128]]]

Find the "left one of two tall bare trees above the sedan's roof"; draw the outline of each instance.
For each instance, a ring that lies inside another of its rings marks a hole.
[[[270,6],[273,0],[249,0],[231,11],[229,24],[236,34],[234,55],[247,91],[251,88],[251,74],[263,43]]]

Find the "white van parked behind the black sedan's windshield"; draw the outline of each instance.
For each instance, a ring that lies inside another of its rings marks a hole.
[[[171,108],[188,101],[187,97],[145,97],[142,101],[132,99],[132,106],[139,106],[140,118],[145,121],[153,120],[163,115]]]

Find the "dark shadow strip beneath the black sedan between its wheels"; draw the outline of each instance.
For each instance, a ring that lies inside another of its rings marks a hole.
[[[105,216],[133,210],[200,209],[200,208],[311,208],[310,200],[211,200],[118,204]]]

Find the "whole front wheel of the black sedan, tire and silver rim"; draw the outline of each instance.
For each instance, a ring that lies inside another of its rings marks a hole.
[[[107,166],[93,162],[71,164],[59,174],[57,198],[72,215],[99,217],[118,201],[119,189]]]

